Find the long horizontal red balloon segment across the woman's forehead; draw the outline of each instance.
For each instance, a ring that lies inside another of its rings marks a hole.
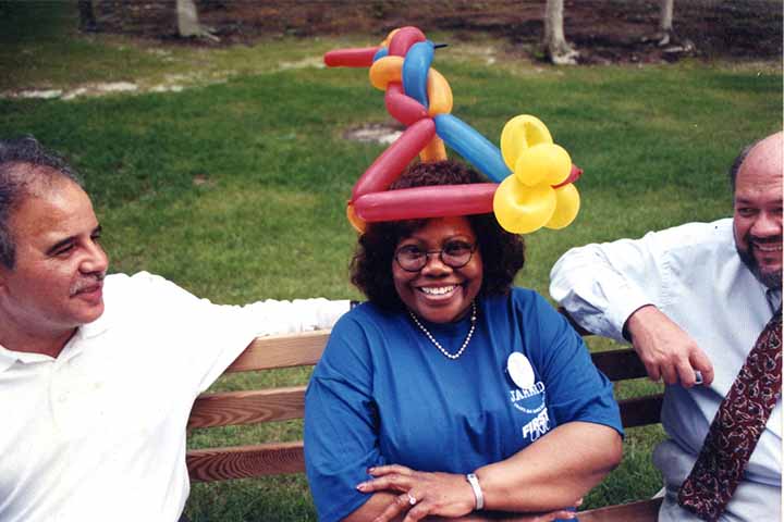
[[[364,221],[399,221],[489,214],[498,184],[438,185],[366,194],[354,200]]]

